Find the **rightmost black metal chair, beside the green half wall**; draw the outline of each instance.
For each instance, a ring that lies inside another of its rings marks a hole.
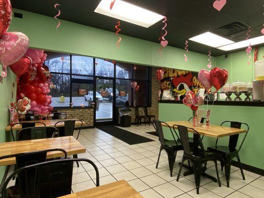
[[[245,180],[245,175],[243,173],[243,169],[242,169],[242,165],[241,165],[241,161],[240,161],[240,157],[239,157],[239,151],[240,151],[240,149],[241,149],[241,147],[242,147],[242,145],[243,145],[243,143],[244,143],[244,141],[248,135],[249,125],[246,123],[236,122],[236,121],[224,121],[224,122],[222,122],[221,126],[224,123],[230,123],[230,127],[232,127],[232,128],[241,129],[242,125],[245,125],[247,128],[246,134],[244,135],[244,138],[243,138],[243,140],[240,144],[240,147],[238,149],[236,149],[236,147],[237,147],[239,134],[229,136],[228,146],[217,146],[217,142],[218,142],[218,138],[217,138],[216,142],[215,142],[215,146],[207,148],[209,151],[217,153],[218,155],[221,156],[221,158],[219,158],[219,160],[221,162],[221,170],[223,170],[223,167],[224,167],[226,184],[227,184],[227,187],[229,187],[231,161],[234,157],[237,158],[243,180]]]

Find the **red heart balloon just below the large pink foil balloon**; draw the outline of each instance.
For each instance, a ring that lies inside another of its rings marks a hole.
[[[32,64],[30,57],[22,57],[17,62],[11,64],[9,67],[17,76],[21,76],[27,72],[28,68]]]

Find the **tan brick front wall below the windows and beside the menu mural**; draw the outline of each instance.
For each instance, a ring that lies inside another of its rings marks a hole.
[[[155,67],[152,68],[152,106],[148,107],[149,115],[155,115],[156,119],[158,119],[158,90],[159,90],[159,82],[156,78]],[[133,105],[133,104],[132,104]],[[74,118],[83,120],[86,122],[85,126],[93,126],[94,125],[94,110],[93,108],[67,108],[67,109],[59,109],[65,113],[71,114]],[[139,108],[139,114],[144,115],[144,108]],[[131,117],[132,123],[135,121],[135,114],[132,112]],[[118,123],[120,123],[120,119],[118,117]]]

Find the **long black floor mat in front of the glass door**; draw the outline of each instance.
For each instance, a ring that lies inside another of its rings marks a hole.
[[[119,140],[122,140],[123,142],[129,144],[129,145],[136,145],[140,143],[146,143],[146,142],[153,142],[154,140],[151,140],[149,138],[134,134],[132,132],[120,129],[115,126],[107,126],[107,127],[97,127],[98,129],[108,133],[109,135],[118,138]]]

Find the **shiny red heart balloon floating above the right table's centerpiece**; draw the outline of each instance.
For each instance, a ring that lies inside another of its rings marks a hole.
[[[220,69],[219,67],[214,67],[210,72],[210,83],[216,89],[217,92],[221,89],[228,79],[228,71],[226,69]]]

